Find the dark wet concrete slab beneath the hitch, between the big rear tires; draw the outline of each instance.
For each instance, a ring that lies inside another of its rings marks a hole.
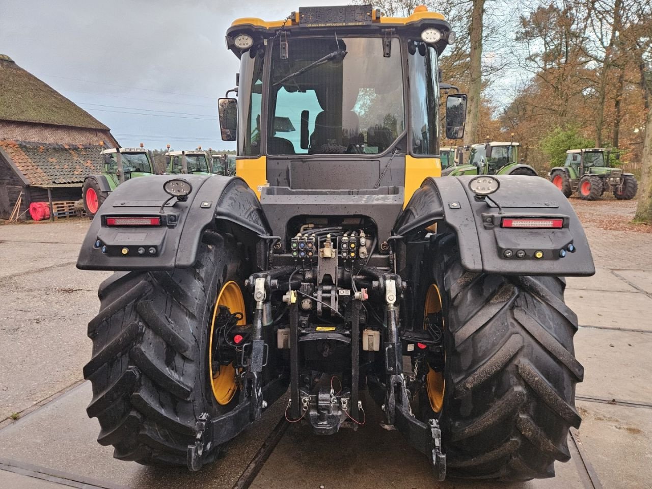
[[[504,482],[435,481],[426,456],[410,447],[398,431],[383,429],[381,411],[366,394],[362,398],[367,418],[357,432],[342,428],[332,436],[317,436],[309,426],[289,426],[250,488],[505,488]],[[509,488],[584,489],[575,464],[556,464],[556,469],[554,479],[509,484]]]

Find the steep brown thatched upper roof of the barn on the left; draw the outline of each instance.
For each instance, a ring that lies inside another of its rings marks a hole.
[[[108,130],[7,55],[0,55],[0,120]]]

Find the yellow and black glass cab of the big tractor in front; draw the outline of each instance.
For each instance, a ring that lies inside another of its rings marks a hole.
[[[408,18],[364,5],[236,20],[226,43],[240,59],[238,98],[221,98],[219,110],[222,138],[237,141],[237,175],[259,197],[269,185],[269,200],[351,188],[407,203],[441,172],[439,55],[452,42],[425,7]],[[458,139],[466,95],[449,95],[447,107]]]

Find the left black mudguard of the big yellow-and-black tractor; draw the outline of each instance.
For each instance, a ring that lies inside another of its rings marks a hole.
[[[188,200],[172,198],[160,212],[162,204],[170,198],[163,185],[177,178],[178,175],[136,178],[111,192],[93,218],[77,267],[125,271],[192,267],[203,231],[220,220],[236,224],[253,235],[269,235],[269,225],[256,194],[239,177],[183,175],[192,185]],[[107,226],[106,218],[111,216],[159,217],[161,224]]]

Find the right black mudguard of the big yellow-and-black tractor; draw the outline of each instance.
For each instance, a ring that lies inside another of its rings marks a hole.
[[[426,179],[399,217],[394,234],[409,238],[433,231],[432,225],[437,224],[437,232],[457,235],[462,267],[473,272],[555,276],[595,273],[582,224],[556,186],[539,177],[495,175],[500,188],[490,198],[501,206],[501,213],[495,203],[475,197],[468,186],[473,178],[462,175]],[[518,217],[562,218],[563,228],[501,227],[503,218]],[[525,252],[524,258],[516,258],[519,250]],[[535,258],[538,251],[542,258]]]

